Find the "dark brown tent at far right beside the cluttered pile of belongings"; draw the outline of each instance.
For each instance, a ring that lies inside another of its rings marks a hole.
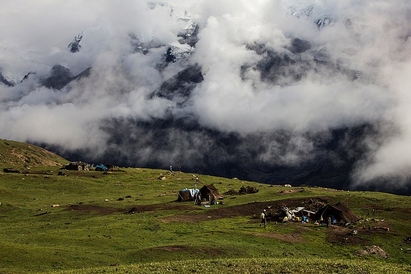
[[[311,216],[312,221],[326,222],[328,217],[331,218],[332,224],[353,223],[360,220],[360,218],[352,213],[352,211],[341,203],[333,206],[326,205],[320,208],[314,215]]]

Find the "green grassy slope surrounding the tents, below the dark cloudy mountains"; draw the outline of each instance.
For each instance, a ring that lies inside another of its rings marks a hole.
[[[17,147],[17,146],[15,146]],[[114,172],[31,168],[0,172],[0,272],[407,273],[411,198],[378,192],[286,188],[144,168]],[[165,176],[165,180],[158,179]],[[224,205],[174,202],[178,191],[214,184]],[[343,202],[363,219],[348,227],[259,227],[263,208]],[[58,205],[58,206],[57,206]],[[372,208],[375,209],[372,216]],[[130,212],[130,213],[129,213]],[[389,227],[389,231],[368,230]],[[357,230],[357,234],[351,234]],[[378,246],[385,253],[360,255]]]

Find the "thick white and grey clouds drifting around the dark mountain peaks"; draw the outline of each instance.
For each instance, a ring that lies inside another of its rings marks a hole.
[[[172,114],[197,117],[202,126],[244,136],[289,131],[299,152],[283,158],[293,162],[307,159],[303,154],[313,150],[312,140],[303,137],[307,132],[378,123],[378,140],[364,140],[374,147],[358,162],[354,184],[383,177],[396,178],[401,186],[411,174],[407,0],[3,0],[0,5],[0,71],[17,83],[0,84],[1,138],[97,149],[108,138],[100,126],[104,119],[150,120]],[[186,22],[176,14],[184,11],[200,26],[189,62],[201,66],[204,81],[180,106],[147,95],[188,65],[177,62],[162,71],[156,67],[167,45],[177,43]],[[319,29],[314,21],[321,18],[332,23]],[[69,52],[67,45],[82,31],[81,51]],[[135,52],[130,33],[163,46],[146,55]],[[321,77],[313,69],[304,71],[307,77],[301,81],[273,85],[261,81],[255,69],[241,75],[242,67],[253,68],[264,58],[247,45],[256,42],[284,52],[294,37],[315,48],[298,58],[323,56],[360,77]],[[94,70],[88,80],[62,90],[39,85],[56,64],[73,75]],[[30,71],[35,75],[18,83]],[[270,153],[268,148],[261,157]]]

